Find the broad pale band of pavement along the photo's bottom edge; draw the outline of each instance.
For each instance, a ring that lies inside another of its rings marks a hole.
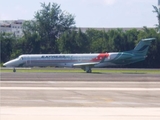
[[[1,107],[3,120],[160,120],[160,108]]]

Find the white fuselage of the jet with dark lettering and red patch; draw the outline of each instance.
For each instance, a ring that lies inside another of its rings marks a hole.
[[[6,67],[73,67],[77,63],[94,63],[100,62],[103,58],[104,62],[96,64],[94,67],[104,67],[110,65],[109,60],[116,57],[116,53],[95,53],[95,54],[31,54],[21,55],[18,58],[6,62]]]

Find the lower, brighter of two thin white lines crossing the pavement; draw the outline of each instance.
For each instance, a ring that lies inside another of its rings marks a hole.
[[[160,88],[88,88],[88,87],[0,87],[0,90],[110,90],[110,91],[160,91]]]

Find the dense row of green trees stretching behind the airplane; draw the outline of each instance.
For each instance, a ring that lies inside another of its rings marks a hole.
[[[156,28],[143,27],[142,30],[109,31],[88,29],[82,32],[76,28],[74,15],[62,11],[56,3],[41,3],[42,9],[34,19],[23,24],[23,36],[0,33],[1,63],[21,54],[60,54],[60,53],[103,53],[133,49],[144,38],[154,37],[148,57],[125,67],[160,67],[160,33]]]

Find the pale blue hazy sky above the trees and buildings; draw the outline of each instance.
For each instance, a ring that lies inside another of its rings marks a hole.
[[[57,3],[75,16],[77,27],[154,27],[158,0],[0,0],[0,20],[31,20],[40,3]]]

